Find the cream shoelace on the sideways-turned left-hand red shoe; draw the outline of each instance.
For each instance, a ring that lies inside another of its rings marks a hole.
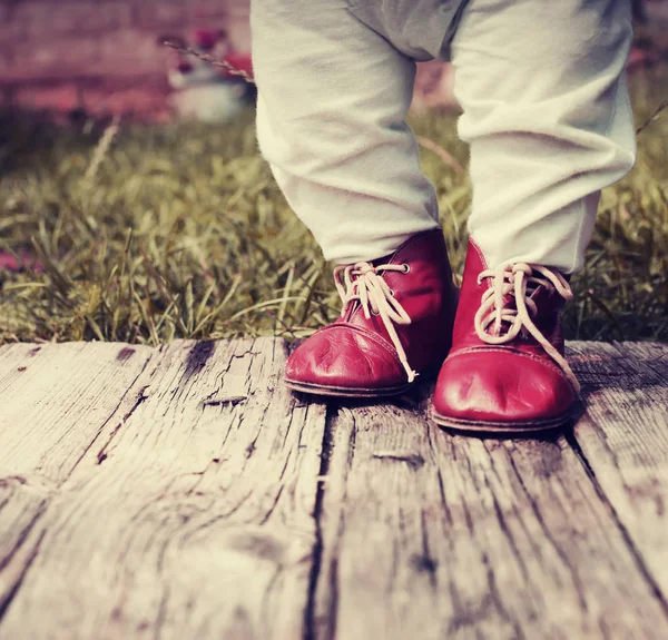
[[[355,263],[354,265],[342,265],[334,268],[334,283],[336,291],[343,301],[342,315],[346,306],[353,301],[358,301],[364,317],[371,317],[371,313],[380,315],[390,339],[399,354],[399,360],[409,376],[409,382],[413,382],[418,375],[409,364],[406,352],[404,351],[399,334],[394,325],[411,324],[411,316],[399,304],[394,297],[394,292],[390,285],[381,277],[382,272],[401,272],[407,274],[409,265],[379,265],[374,267],[370,263]]]

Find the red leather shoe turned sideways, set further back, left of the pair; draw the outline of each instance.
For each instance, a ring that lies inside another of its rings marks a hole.
[[[418,234],[392,255],[334,269],[341,316],[289,356],[288,387],[380,397],[435,373],[451,344],[456,287],[441,229]]]

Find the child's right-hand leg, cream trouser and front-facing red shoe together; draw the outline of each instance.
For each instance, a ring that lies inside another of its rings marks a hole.
[[[434,419],[536,431],[570,419],[563,273],[582,265],[599,191],[635,157],[628,0],[470,0],[453,41],[473,209]],[[561,273],[560,273],[561,272]]]

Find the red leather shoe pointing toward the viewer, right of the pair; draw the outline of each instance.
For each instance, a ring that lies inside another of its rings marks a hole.
[[[557,270],[523,263],[491,270],[471,240],[434,422],[505,433],[567,422],[580,388],[563,357],[560,311],[570,298]]]

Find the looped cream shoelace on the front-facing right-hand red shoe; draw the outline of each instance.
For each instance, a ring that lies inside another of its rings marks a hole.
[[[580,384],[568,362],[540,333],[531,319],[531,316],[536,316],[538,312],[531,294],[541,285],[550,291],[557,291],[567,301],[572,299],[573,293],[564,277],[547,267],[517,263],[500,265],[495,269],[485,269],[478,276],[478,284],[485,278],[492,278],[492,286],[484,292],[482,303],[475,314],[478,337],[488,344],[505,344],[518,336],[520,332],[529,332],[561,367],[568,381],[579,393]],[[517,309],[504,306],[503,298],[505,296],[514,297]],[[503,331],[502,323],[509,323],[508,331]],[[491,332],[489,331],[490,325],[493,325]]]

